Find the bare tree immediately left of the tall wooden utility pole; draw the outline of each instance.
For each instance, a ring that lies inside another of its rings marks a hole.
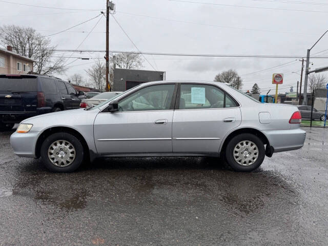
[[[89,75],[91,86],[98,90],[104,90],[106,87],[106,65],[105,60],[100,58],[96,60],[91,68],[85,70]]]

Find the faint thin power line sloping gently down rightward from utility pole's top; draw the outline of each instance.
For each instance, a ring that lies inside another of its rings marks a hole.
[[[142,14],[134,14],[134,13],[128,13],[128,12],[121,12],[121,11],[116,11],[116,13],[127,14],[127,15],[134,15],[134,16],[140,16],[140,17],[146,17],[146,18],[152,18],[152,19],[159,19],[159,20],[167,20],[169,22],[186,23],[186,24],[192,24],[192,25],[201,25],[201,26],[209,26],[209,27],[219,27],[219,28],[227,28],[227,29],[237,29],[237,30],[247,30],[247,31],[259,31],[259,32],[273,32],[273,33],[287,33],[287,34],[300,34],[300,35],[315,35],[314,33],[285,32],[285,31],[253,29],[253,28],[241,28],[241,27],[228,27],[228,26],[220,26],[220,25],[214,25],[214,24],[195,23],[195,22],[187,22],[185,20],[168,19],[168,18],[154,17],[154,16],[148,16],[148,15],[142,15]]]

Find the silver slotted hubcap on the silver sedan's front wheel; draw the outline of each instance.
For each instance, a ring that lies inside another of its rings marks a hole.
[[[54,141],[48,149],[49,160],[57,167],[67,167],[75,159],[74,146],[66,140]]]

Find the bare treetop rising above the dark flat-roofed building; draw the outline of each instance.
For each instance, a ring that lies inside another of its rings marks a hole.
[[[116,64],[118,68],[139,69],[142,68],[142,59],[140,54],[135,53],[117,53],[111,54],[111,64]]]

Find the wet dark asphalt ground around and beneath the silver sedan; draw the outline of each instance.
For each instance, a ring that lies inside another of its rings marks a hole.
[[[109,158],[75,173],[0,132],[0,245],[327,245],[328,129],[252,173],[210,158]]]

